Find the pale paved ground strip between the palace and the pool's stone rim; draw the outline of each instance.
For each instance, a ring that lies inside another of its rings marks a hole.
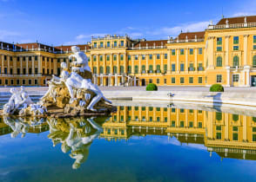
[[[0,92],[9,92],[11,87],[3,88],[0,87]],[[18,87],[19,88],[19,87]],[[25,87],[27,91],[46,91],[47,87]],[[144,91],[145,87],[99,87],[101,90],[105,91],[118,91],[118,90],[127,90],[127,91]],[[189,86],[159,86],[159,91],[197,91],[197,92],[209,92],[210,88],[207,87],[189,87]],[[241,93],[256,93],[255,88],[225,88],[225,92],[241,92]]]

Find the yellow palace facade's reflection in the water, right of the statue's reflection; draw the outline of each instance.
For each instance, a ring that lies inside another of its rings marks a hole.
[[[212,155],[256,159],[256,117],[213,111],[118,106],[100,137],[128,140],[131,135],[168,135],[181,143],[203,144]]]

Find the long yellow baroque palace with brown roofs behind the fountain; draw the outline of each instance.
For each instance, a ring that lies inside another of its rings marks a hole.
[[[77,46],[100,86],[256,86],[256,16],[222,18],[168,40],[104,36]],[[0,86],[45,86],[70,54],[71,46],[0,42]]]

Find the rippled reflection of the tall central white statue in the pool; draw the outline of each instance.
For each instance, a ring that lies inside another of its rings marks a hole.
[[[50,134],[54,146],[62,143],[63,153],[70,153],[70,157],[75,159],[72,165],[77,169],[88,158],[91,143],[103,131],[102,127],[94,121],[94,118],[79,120],[48,120]]]

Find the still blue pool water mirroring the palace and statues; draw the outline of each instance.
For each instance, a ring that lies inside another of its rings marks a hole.
[[[119,102],[98,118],[0,118],[0,181],[255,181],[256,112]]]

